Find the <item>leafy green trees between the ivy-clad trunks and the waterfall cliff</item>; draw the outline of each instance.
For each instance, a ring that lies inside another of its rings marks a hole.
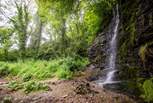
[[[115,0],[36,0],[41,21],[51,27],[51,42],[41,47],[38,57],[86,55],[101,24],[107,24]],[[107,23],[106,23],[107,21]],[[50,46],[50,47],[49,47]],[[43,53],[46,48],[46,53]],[[49,52],[47,52],[49,50]],[[81,54],[81,55],[82,55]]]

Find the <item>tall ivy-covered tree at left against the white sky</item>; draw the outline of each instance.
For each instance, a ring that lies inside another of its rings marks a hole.
[[[18,4],[17,2],[15,2],[15,4],[17,9],[17,15],[13,18],[10,18],[10,21],[13,24],[13,29],[18,35],[20,58],[24,60],[28,34],[27,28],[29,24],[29,13],[27,5],[22,3]]]

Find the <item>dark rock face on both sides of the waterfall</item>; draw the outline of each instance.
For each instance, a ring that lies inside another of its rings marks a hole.
[[[118,0],[118,3],[120,27],[117,75],[124,83],[128,83],[124,87],[125,91],[128,88],[128,92],[135,92],[137,78],[153,77],[153,0]],[[90,61],[101,69],[105,66],[107,29],[97,36],[89,48]]]

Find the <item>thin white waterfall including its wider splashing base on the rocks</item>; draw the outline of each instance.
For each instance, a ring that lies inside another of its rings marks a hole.
[[[119,10],[118,5],[116,6],[116,10],[114,10],[113,13],[113,19],[110,24],[109,33],[108,35],[108,50],[107,50],[107,58],[106,58],[106,66],[103,72],[105,73],[104,76],[102,76],[98,80],[98,84],[104,85],[104,84],[112,84],[115,83],[114,81],[114,75],[116,70],[116,56],[117,56],[117,34],[118,34],[118,27],[119,27]]]

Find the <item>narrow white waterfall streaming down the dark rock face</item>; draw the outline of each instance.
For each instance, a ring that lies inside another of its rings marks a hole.
[[[112,39],[109,42],[109,59],[108,59],[108,66],[106,69],[109,69],[108,74],[106,75],[106,79],[104,80],[104,84],[112,83],[114,73],[116,72],[116,54],[117,54],[117,34],[118,34],[118,26],[119,26],[119,11],[118,5],[116,7],[116,13],[114,13],[114,30],[112,32]]]

